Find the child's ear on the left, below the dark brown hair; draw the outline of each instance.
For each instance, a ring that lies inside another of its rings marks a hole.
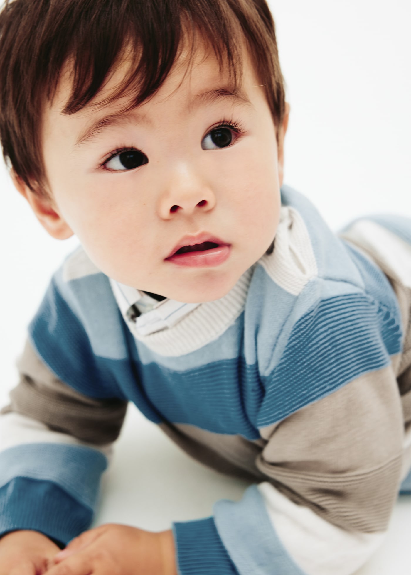
[[[10,177],[18,193],[29,202],[31,209],[36,214],[37,220],[39,220],[45,231],[57,240],[66,240],[68,237],[74,235],[69,225],[60,215],[53,200],[43,194],[33,192],[18,177],[13,169],[10,170]]]

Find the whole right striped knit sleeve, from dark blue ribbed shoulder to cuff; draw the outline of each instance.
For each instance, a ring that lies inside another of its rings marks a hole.
[[[343,287],[307,310],[261,374],[265,480],[218,501],[212,519],[174,525],[182,575],[211,574],[218,558],[221,574],[351,575],[382,542],[408,473],[402,331],[395,310]]]

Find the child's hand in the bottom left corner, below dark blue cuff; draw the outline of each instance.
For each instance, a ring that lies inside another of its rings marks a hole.
[[[43,575],[48,559],[58,551],[51,539],[37,531],[7,533],[0,539],[0,575]]]

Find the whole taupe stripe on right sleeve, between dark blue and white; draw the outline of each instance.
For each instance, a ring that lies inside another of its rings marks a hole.
[[[384,531],[404,458],[404,419],[393,369],[355,379],[272,432],[257,466],[292,501],[333,524]]]

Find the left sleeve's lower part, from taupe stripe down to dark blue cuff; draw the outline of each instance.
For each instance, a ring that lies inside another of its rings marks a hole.
[[[18,369],[20,382],[0,412],[0,535],[36,530],[64,546],[92,522],[127,404],[70,388],[29,339]]]

